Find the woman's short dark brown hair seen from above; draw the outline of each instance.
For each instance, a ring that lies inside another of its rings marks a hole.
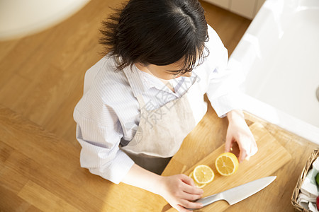
[[[119,58],[117,70],[137,62],[165,66],[181,60],[178,73],[186,73],[208,53],[207,23],[198,0],[130,0],[102,25],[99,41],[105,53]]]

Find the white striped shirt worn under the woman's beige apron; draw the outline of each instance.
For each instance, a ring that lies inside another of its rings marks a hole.
[[[192,75],[198,76],[202,93],[207,93],[218,116],[224,117],[230,110],[241,109],[238,86],[242,76],[237,74],[240,71],[227,69],[228,51],[210,26],[208,35],[206,47],[210,54]],[[106,56],[86,71],[84,95],[74,108],[73,116],[77,122],[77,140],[82,146],[82,167],[118,184],[133,165],[133,160],[118,145],[122,138],[133,139],[140,122],[140,108],[135,96],[142,94],[149,107],[147,110],[154,110],[186,93],[192,78],[171,80],[173,93],[158,78],[136,66],[132,67],[134,85],[131,88],[123,71],[114,69],[114,59]],[[192,110],[197,124],[200,113],[196,108]]]

